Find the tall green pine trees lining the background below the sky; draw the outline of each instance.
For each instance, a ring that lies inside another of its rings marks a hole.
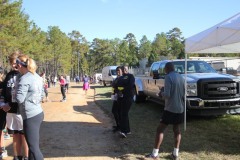
[[[77,30],[64,33],[59,26],[49,26],[47,31],[41,30],[22,9],[22,0],[0,0],[0,17],[0,67],[6,71],[9,69],[8,56],[14,51],[21,51],[33,58],[38,65],[38,73],[71,77],[93,75],[109,65],[138,68],[142,59],[147,59],[148,67],[162,57],[185,58],[185,38],[177,26],[166,33],[156,33],[153,41],[143,35],[138,42],[130,32],[123,39],[95,38],[89,42]],[[209,55],[238,56],[220,53]]]

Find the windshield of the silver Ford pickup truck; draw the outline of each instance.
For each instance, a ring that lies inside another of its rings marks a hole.
[[[185,61],[173,61],[175,71],[185,73]],[[216,73],[205,61],[187,61],[187,73]]]

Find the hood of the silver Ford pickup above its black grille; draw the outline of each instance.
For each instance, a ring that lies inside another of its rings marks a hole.
[[[185,74],[183,74],[183,77],[185,78]],[[233,75],[229,74],[219,74],[219,73],[194,73],[194,74],[187,74],[187,82],[197,82],[199,79],[216,79],[216,78],[236,78]]]

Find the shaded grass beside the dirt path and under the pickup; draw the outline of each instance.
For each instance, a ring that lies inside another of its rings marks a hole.
[[[93,86],[95,101],[112,116],[111,87]],[[142,159],[152,151],[156,128],[163,107],[152,102],[133,104],[129,113],[132,135],[119,140],[122,159]],[[183,126],[182,126],[183,128]],[[169,159],[173,150],[172,126],[165,132],[160,159]],[[187,117],[187,130],[182,129],[182,160],[239,160],[240,115]]]

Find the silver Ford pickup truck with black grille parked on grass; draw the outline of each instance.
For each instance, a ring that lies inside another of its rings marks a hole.
[[[188,114],[211,116],[240,113],[240,79],[217,73],[201,60],[187,60],[186,76],[184,60],[154,62],[148,76],[135,77],[135,102],[147,98],[164,105],[164,100],[156,93],[164,86],[164,67],[169,61],[174,64],[175,71],[186,78]]]

